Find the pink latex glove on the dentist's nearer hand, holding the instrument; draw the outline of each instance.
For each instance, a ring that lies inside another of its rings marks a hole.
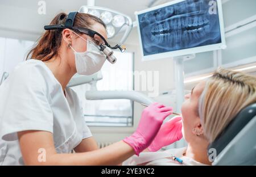
[[[137,130],[123,141],[133,147],[135,154],[139,155],[154,140],[163,120],[172,114],[172,107],[160,103],[152,103],[142,112]]]

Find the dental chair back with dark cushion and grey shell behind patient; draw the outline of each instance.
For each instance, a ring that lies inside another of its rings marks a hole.
[[[243,108],[208,146],[208,155],[214,151],[212,165],[256,165],[256,103]]]

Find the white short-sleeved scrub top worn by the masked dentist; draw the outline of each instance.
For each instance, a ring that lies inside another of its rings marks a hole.
[[[22,62],[0,86],[0,165],[24,165],[17,132],[53,134],[57,153],[92,136],[75,91],[65,89],[40,60]]]

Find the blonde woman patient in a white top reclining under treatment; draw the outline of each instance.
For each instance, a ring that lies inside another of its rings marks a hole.
[[[185,95],[181,107],[182,134],[188,146],[144,152],[127,159],[123,165],[181,165],[172,155],[182,159],[183,165],[211,165],[209,144],[241,109],[255,102],[255,77],[219,68],[207,81],[197,84],[191,94]]]

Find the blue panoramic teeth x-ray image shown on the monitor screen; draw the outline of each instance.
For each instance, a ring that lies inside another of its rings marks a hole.
[[[139,14],[144,56],[221,43],[218,9],[189,0]]]

